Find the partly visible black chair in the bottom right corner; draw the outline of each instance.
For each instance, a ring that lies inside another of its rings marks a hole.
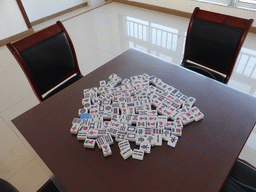
[[[221,192],[256,192],[256,169],[238,159]]]

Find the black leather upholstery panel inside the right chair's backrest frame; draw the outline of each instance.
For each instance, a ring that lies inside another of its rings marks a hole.
[[[194,18],[188,40],[187,59],[228,71],[243,29]]]

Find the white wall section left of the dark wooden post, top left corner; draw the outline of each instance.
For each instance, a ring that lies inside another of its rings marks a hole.
[[[28,30],[16,0],[0,0],[0,40]]]

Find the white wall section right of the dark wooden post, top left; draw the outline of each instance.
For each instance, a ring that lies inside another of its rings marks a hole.
[[[30,22],[87,2],[87,0],[22,0]]]

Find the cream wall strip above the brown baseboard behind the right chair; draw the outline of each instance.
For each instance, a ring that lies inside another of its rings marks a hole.
[[[205,9],[208,11],[233,15],[236,17],[242,17],[246,19],[254,19],[252,26],[256,27],[256,11],[238,9],[235,7],[228,7],[228,6],[222,6],[222,5],[215,5],[211,3],[198,2],[195,0],[129,0],[129,1],[156,5],[159,7],[175,9],[175,10],[188,12],[188,13],[192,13],[195,7],[200,7],[201,9]]]

